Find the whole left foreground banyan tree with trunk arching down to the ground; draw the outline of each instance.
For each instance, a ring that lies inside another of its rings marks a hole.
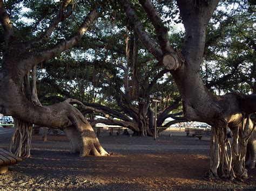
[[[81,157],[88,154],[108,154],[100,145],[90,123],[72,106],[72,103],[79,103],[78,101],[68,99],[43,106],[37,98],[35,67],[75,46],[98,17],[97,7],[91,9],[85,13],[87,16],[80,23],[76,34],[60,39],[49,47],[45,46],[58,24],[69,18],[74,8],[73,1],[59,3],[58,12],[45,31],[32,39],[23,40],[12,25],[3,1],[0,1],[3,29],[0,40],[4,44],[0,75],[0,111],[4,115],[15,117],[15,132],[10,150],[18,156],[30,155],[32,124],[63,129],[71,142],[71,152],[79,152]]]

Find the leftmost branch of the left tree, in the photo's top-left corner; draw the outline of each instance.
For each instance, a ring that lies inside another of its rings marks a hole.
[[[9,15],[4,8],[3,0],[0,0],[0,20],[4,29],[5,43],[8,44],[10,41],[10,38],[14,35],[14,31],[12,29]]]

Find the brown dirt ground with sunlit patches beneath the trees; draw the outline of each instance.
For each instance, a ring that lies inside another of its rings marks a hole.
[[[1,131],[0,131],[1,132]],[[170,137],[170,133],[172,136]],[[0,133],[0,147],[7,148],[11,133]],[[58,190],[255,190],[256,170],[249,170],[245,182],[208,180],[210,139],[186,136],[185,132],[164,132],[151,137],[109,136],[100,143],[108,157],[85,157],[69,153],[65,135],[33,135],[32,156],[9,167],[0,175],[0,189]],[[213,190],[213,189],[211,189]]]

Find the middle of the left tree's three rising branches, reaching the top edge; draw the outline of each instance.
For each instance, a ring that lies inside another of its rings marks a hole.
[[[28,45],[26,45],[27,49],[30,48],[35,48],[38,46],[41,46],[43,43],[45,43],[45,41],[47,41],[53,30],[55,29],[55,27],[62,22],[63,20],[65,20],[66,18],[68,18],[73,11],[72,5],[69,5],[72,1],[71,0],[65,0],[62,5],[59,8],[59,11],[57,13],[57,16],[52,20],[52,23],[50,24],[50,26],[48,27],[48,29],[44,32],[44,34],[42,35],[41,38],[35,40],[35,41],[30,41],[28,43]],[[66,12],[64,12],[67,9]]]

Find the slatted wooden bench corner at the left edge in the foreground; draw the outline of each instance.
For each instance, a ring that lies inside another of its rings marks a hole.
[[[0,174],[6,173],[8,171],[8,166],[14,165],[21,161],[21,158],[16,157],[14,154],[8,151],[5,151],[3,148],[0,148]]]

